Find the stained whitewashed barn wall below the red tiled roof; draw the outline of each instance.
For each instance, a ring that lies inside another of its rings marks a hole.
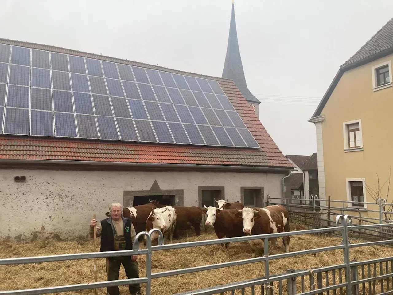
[[[15,182],[15,176],[26,182]],[[241,186],[263,186],[281,197],[284,174],[223,172],[134,172],[0,170],[0,238],[29,239],[59,234],[73,238],[88,234],[93,217],[105,219],[112,202],[123,203],[125,190],[149,190],[157,180],[163,190],[183,189],[184,206],[198,206],[198,186],[225,186],[225,198],[240,201]],[[266,186],[268,184],[268,186]]]

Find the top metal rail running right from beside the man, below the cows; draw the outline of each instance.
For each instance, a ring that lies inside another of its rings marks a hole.
[[[392,224],[392,226],[393,226],[393,224]],[[250,241],[250,240],[281,238],[284,236],[298,236],[298,235],[302,235],[302,234],[315,234],[315,233],[319,233],[319,232],[332,232],[332,231],[342,230],[342,229],[343,229],[342,226],[340,226],[340,227],[327,227],[327,228],[321,228],[321,229],[306,229],[306,230],[295,230],[295,231],[290,231],[290,232],[277,232],[275,234],[258,234],[258,235],[253,235],[253,236],[241,236],[241,237],[235,237],[235,238],[224,238],[224,239],[215,239],[215,240],[206,240],[206,241],[173,243],[173,244],[167,244],[167,245],[152,246],[152,251],[215,245],[215,244],[221,244],[221,243],[245,242],[245,241]]]

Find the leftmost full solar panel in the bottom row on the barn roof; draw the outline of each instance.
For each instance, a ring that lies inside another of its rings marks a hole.
[[[29,110],[7,107],[4,133],[29,135]]]

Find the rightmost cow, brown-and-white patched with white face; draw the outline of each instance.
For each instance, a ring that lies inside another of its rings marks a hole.
[[[289,213],[281,205],[267,206],[264,208],[243,208],[236,209],[235,217],[243,221],[243,232],[246,235],[272,234],[276,232],[289,231]],[[263,241],[264,239],[262,239]],[[268,239],[275,247],[277,238]],[[252,257],[255,257],[257,241],[248,241],[252,248]],[[285,252],[289,252],[289,236],[283,237]],[[262,244],[263,245],[263,244]]]

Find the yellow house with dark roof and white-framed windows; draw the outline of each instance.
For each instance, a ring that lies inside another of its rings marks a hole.
[[[375,203],[381,197],[393,203],[388,196],[393,162],[392,59],[393,18],[340,66],[309,120],[316,126],[321,201],[330,196],[331,201],[348,202],[345,207],[367,210],[379,206],[357,202]],[[393,195],[393,182],[391,186]],[[343,202],[331,206],[342,207]],[[367,215],[379,216],[362,213]]]

